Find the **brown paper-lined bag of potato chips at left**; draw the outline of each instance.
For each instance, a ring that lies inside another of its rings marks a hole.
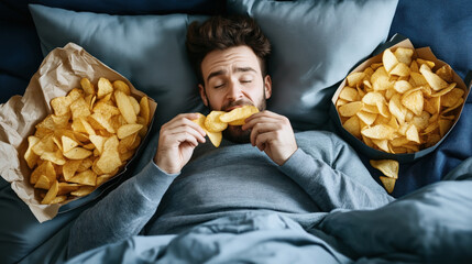
[[[0,174],[40,222],[95,199],[144,142],[156,103],[80,46],[52,51],[0,110]],[[95,191],[97,189],[97,191]],[[91,197],[94,196],[94,197]]]

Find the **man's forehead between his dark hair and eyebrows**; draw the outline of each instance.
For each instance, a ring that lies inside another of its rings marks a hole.
[[[257,56],[249,46],[230,47],[222,51],[212,51],[201,62],[204,78],[217,70],[233,70],[237,67],[251,67],[257,73],[261,65]]]

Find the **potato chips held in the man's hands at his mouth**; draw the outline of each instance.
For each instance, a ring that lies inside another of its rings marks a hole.
[[[200,113],[194,122],[205,130],[211,143],[218,147],[222,140],[221,132],[228,128],[228,124],[243,125],[244,120],[256,112],[259,109],[254,106],[234,108],[229,112],[213,110],[207,117]]]

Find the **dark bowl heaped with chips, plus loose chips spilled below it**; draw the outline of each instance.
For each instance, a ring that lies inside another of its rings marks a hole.
[[[404,40],[353,69],[332,97],[342,136],[393,191],[399,163],[431,153],[458,122],[470,89],[429,47]]]

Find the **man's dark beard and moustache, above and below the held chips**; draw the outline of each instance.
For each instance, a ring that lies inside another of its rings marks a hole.
[[[263,94],[263,97],[256,105],[254,105],[250,100],[238,100],[227,103],[221,108],[222,111],[227,111],[227,109],[234,107],[234,106],[254,106],[259,109],[259,111],[264,111],[266,108],[266,98],[265,94]],[[210,106],[210,110],[213,110],[213,108]],[[250,143],[251,142],[251,130],[242,130],[242,125],[228,125],[226,130],[223,130],[222,135],[224,139],[234,142],[234,143]]]

